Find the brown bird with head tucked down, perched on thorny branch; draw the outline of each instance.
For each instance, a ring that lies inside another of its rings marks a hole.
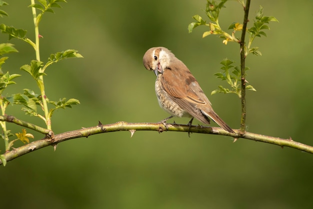
[[[164,47],[153,47],[143,56],[143,65],[156,75],[155,93],[158,104],[171,116],[189,117],[209,124],[211,118],[224,130],[234,131],[213,111],[211,103],[188,68]]]

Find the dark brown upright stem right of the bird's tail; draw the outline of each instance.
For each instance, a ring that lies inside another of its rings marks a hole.
[[[240,38],[240,70],[241,70],[241,120],[239,133],[245,133],[245,116],[246,116],[246,102],[245,102],[245,44],[244,38],[246,33],[246,25],[248,23],[250,0],[246,0],[246,5],[244,9],[244,17],[242,24],[242,33]]]

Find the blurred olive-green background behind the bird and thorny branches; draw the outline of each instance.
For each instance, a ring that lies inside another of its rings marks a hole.
[[[28,31],[33,39],[30,1],[7,1],[1,22]],[[44,14],[40,23],[41,60],[75,49],[83,59],[52,65],[45,77],[50,100],[76,98],[80,105],[58,110],[55,133],[116,121],[157,122],[168,115],[158,107],[155,76],[142,65],[147,49],[164,46],[182,60],[208,95],[215,111],[232,127],[240,122],[235,95],[210,92],[225,85],[213,74],[223,58],[239,64],[239,46],[213,36],[206,28],[188,34],[193,15],[205,17],[205,0],[68,1]],[[259,5],[274,16],[267,38],[257,39],[262,56],[249,55],[247,130],[312,141],[313,2],[252,1],[250,20]],[[242,8],[227,3],[220,24],[242,22]],[[251,21],[252,22],[252,21]],[[251,23],[250,23],[251,25]],[[249,26],[250,26],[249,25]],[[238,34],[239,36],[239,34]],[[6,42],[7,35],[0,35]],[[9,54],[3,70],[22,76],[5,93],[38,92],[20,66],[34,52],[12,40],[19,53]],[[7,114],[43,125],[10,106]],[[186,124],[188,119],[175,119]],[[171,120],[172,122],[172,120]],[[195,122],[197,123],[197,122]],[[212,124],[216,125],[216,124]],[[8,124],[12,132],[20,127]],[[31,132],[31,131],[29,131]],[[36,139],[42,135],[33,133]],[[16,143],[21,145],[21,143]],[[0,143],[3,152],[3,142]],[[260,142],[204,134],[137,131],[93,135],[46,147],[0,167],[1,208],[312,208],[313,156]]]

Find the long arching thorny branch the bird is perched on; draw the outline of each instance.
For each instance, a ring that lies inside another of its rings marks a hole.
[[[97,126],[82,128],[79,130],[69,131],[65,133],[60,133],[52,136],[51,138],[43,138],[41,140],[33,141],[29,144],[25,144],[18,148],[14,148],[11,151],[8,151],[1,155],[7,161],[20,157],[28,152],[32,152],[34,150],[52,145],[55,146],[57,143],[66,141],[69,139],[80,138],[80,137],[88,137],[90,135],[106,133],[106,132],[114,132],[114,131],[129,131],[131,133],[130,136],[134,134],[135,131],[180,131],[180,132],[190,132],[190,133],[204,133],[204,134],[216,134],[223,136],[230,136],[235,139],[244,138],[250,139],[254,141],[260,141],[270,144],[276,144],[281,147],[291,147],[294,149],[298,149],[304,152],[308,152],[313,154],[313,147],[302,144],[290,139],[282,139],[277,137],[265,136],[255,133],[245,132],[240,137],[237,134],[229,133],[222,128],[219,127],[207,127],[207,126],[191,126],[189,128],[188,125],[180,125],[180,124],[166,124],[166,126],[162,123],[127,123],[127,122],[116,122],[112,124],[102,125],[99,123]],[[238,131],[238,130],[234,130]],[[0,160],[0,164],[3,164]]]

